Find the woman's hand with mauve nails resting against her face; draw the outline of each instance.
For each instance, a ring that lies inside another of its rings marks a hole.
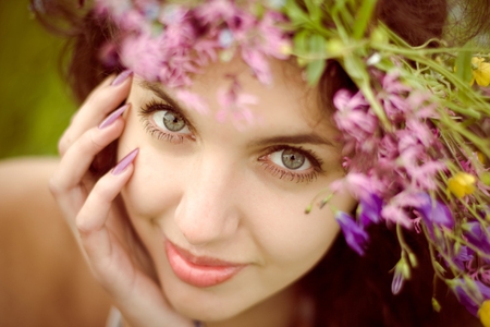
[[[122,134],[121,116],[131,110],[126,104],[109,114],[131,88],[128,72],[117,77],[120,83],[111,84],[112,80],[107,78],[88,96],[61,137],[62,158],[50,190],[95,278],[131,326],[194,326],[170,307],[156,278],[150,277],[150,259],[118,196],[133,173],[138,150],[98,180],[90,171],[97,155]]]

